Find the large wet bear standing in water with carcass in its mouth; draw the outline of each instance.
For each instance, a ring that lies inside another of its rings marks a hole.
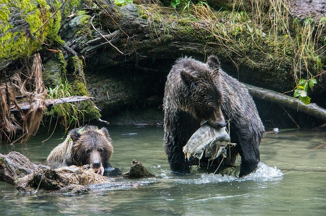
[[[189,173],[198,161],[186,160],[182,147],[203,122],[219,129],[226,126],[225,119],[231,142],[237,145],[227,152],[223,165],[232,165],[239,153],[240,177],[257,168],[264,126],[248,90],[221,69],[217,57],[209,56],[206,64],[190,57],[176,61],[166,82],[164,112],[165,149],[172,171]]]

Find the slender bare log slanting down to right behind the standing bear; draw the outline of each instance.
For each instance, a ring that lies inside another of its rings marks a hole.
[[[271,103],[276,103],[278,105],[285,106],[326,121],[326,109],[323,109],[317,106],[316,104],[306,105],[297,98],[283,95],[277,91],[260,88],[246,83],[242,84],[246,86],[246,88],[254,98],[263,101],[268,101]]]

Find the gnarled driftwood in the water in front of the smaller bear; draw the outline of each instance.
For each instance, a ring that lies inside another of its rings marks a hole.
[[[136,162],[137,169],[130,167],[133,178],[154,176],[140,162]],[[112,181],[107,176],[93,172],[89,166],[50,169],[45,165],[31,163],[28,158],[15,151],[9,152],[8,155],[0,153],[0,181],[12,184],[19,192],[46,194],[80,194],[141,186],[140,182]]]

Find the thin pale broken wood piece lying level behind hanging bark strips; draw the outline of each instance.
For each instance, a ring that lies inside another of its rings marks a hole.
[[[87,96],[72,96],[68,98],[58,98],[58,99],[46,99],[45,100],[45,106],[52,106],[52,105],[58,105],[63,103],[71,103],[71,102],[78,102],[78,101],[86,101],[91,100],[92,97]],[[20,110],[28,110],[31,107],[30,103],[20,103],[18,104],[19,108],[17,108],[15,105],[10,107],[11,112],[20,111]]]

